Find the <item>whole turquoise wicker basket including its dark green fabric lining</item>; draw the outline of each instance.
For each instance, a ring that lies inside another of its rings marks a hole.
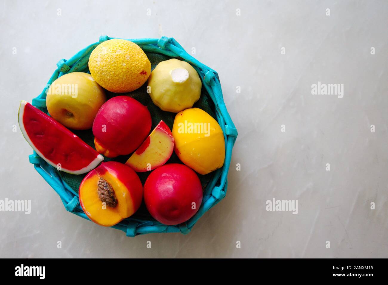
[[[91,52],[103,41],[111,39],[113,38],[108,36],[100,36],[99,41],[84,48],[73,57],[71,57],[71,59],[61,59],[57,63],[57,69],[54,71],[54,74],[51,76],[42,93],[32,100],[32,105],[47,113],[46,90],[50,87],[52,82],[66,73],[75,71],[90,73],[88,69],[88,60]],[[185,60],[196,69],[199,77],[202,80],[203,86],[201,90],[201,97],[193,107],[197,107],[208,112],[218,121],[218,124],[220,124],[225,138],[225,162],[222,168],[217,169],[216,171],[206,175],[198,174],[203,186],[202,204],[198,209],[198,212],[185,223],[174,226],[163,225],[151,217],[151,215],[147,212],[143,202],[142,206],[135,214],[127,219],[124,219],[117,225],[112,226],[112,228],[124,231],[128,237],[134,237],[135,235],[142,235],[146,233],[181,232],[183,234],[187,234],[191,231],[191,228],[194,226],[197,220],[201,218],[201,216],[211,207],[220,202],[220,200],[222,200],[226,195],[228,186],[227,174],[232,156],[232,148],[237,137],[237,130],[228,114],[225,103],[223,102],[221,84],[216,71],[194,59],[194,57],[189,55],[184,50],[184,48],[182,48],[181,45],[173,38],[167,38],[163,36],[160,39],[145,38],[129,40],[133,41],[144,50],[145,54],[147,54],[147,57],[151,62],[152,70],[159,62],[168,60],[170,58]],[[130,93],[106,93],[108,99],[116,95],[127,95],[146,105],[151,113],[152,129],[159,123],[161,119],[165,121],[170,129],[172,129],[175,114],[161,111],[158,107],[152,104],[152,100],[147,93],[147,83]],[[94,136],[92,134],[92,130],[74,131],[74,133],[80,136],[81,139],[83,139],[86,143],[94,148]],[[114,159],[104,157],[104,161],[115,160],[125,162],[129,156],[130,155],[123,155]],[[33,154],[29,155],[29,162],[34,164],[36,171],[38,171],[44,180],[46,180],[47,183],[49,183],[50,186],[55,190],[55,192],[58,193],[67,211],[72,212],[73,214],[76,214],[82,218],[88,219],[88,217],[82,211],[78,198],[78,187],[86,174],[73,175],[58,171],[56,168],[47,164],[47,162],[38,156],[35,151]],[[173,153],[167,163],[170,162],[182,163],[179,161],[175,153]],[[149,175],[149,172],[138,174],[144,185],[145,179]]]

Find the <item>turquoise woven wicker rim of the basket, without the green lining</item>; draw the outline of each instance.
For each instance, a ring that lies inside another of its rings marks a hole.
[[[110,39],[112,38],[108,36],[100,36],[99,41],[84,48],[73,57],[71,57],[71,59],[61,59],[57,63],[57,69],[54,71],[54,74],[51,76],[42,93],[32,100],[32,105],[38,107],[44,112],[47,112],[46,90],[49,88],[51,83],[66,73],[75,71],[88,72],[88,59],[91,52],[101,42]],[[112,228],[124,231],[128,237],[134,237],[135,235],[142,235],[146,233],[181,232],[183,234],[187,234],[190,232],[196,221],[206,211],[215,206],[225,197],[228,186],[227,174],[232,156],[232,148],[237,137],[237,130],[228,114],[225,103],[223,102],[220,80],[216,71],[194,59],[194,57],[189,55],[184,50],[184,48],[182,48],[182,46],[173,38],[167,38],[163,36],[160,39],[145,38],[129,40],[139,45],[144,50],[144,52],[161,54],[170,58],[180,58],[189,62],[196,69],[202,79],[203,88],[206,89],[209,97],[214,102],[213,116],[215,116],[217,119],[224,133],[226,153],[223,167],[213,171],[210,174],[211,176],[209,177],[206,183],[206,187],[204,188],[201,207],[199,208],[198,212],[187,222],[175,226],[166,226],[152,219],[151,216],[148,218],[133,218],[133,216],[131,216],[130,218],[121,221],[117,225],[112,226]],[[55,192],[58,193],[67,211],[72,212],[82,218],[88,219],[80,207],[78,193],[63,180],[62,175],[59,174],[56,168],[47,164],[47,162],[45,162],[35,152],[32,155],[29,155],[29,161],[34,164],[36,171],[38,171],[38,173],[47,181],[47,183],[50,184]]]

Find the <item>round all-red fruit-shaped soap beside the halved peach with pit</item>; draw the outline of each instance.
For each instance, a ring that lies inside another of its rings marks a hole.
[[[145,206],[154,219],[165,225],[178,225],[194,216],[202,196],[201,181],[184,164],[156,168],[144,184]]]

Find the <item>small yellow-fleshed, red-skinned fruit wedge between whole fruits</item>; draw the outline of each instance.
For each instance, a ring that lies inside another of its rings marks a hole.
[[[171,130],[165,122],[160,121],[125,164],[137,172],[149,171],[165,164],[173,150]]]

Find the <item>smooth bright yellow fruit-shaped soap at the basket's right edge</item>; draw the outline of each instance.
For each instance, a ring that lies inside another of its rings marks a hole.
[[[186,109],[175,116],[172,135],[179,159],[199,174],[223,166],[225,138],[213,117],[198,108]]]

